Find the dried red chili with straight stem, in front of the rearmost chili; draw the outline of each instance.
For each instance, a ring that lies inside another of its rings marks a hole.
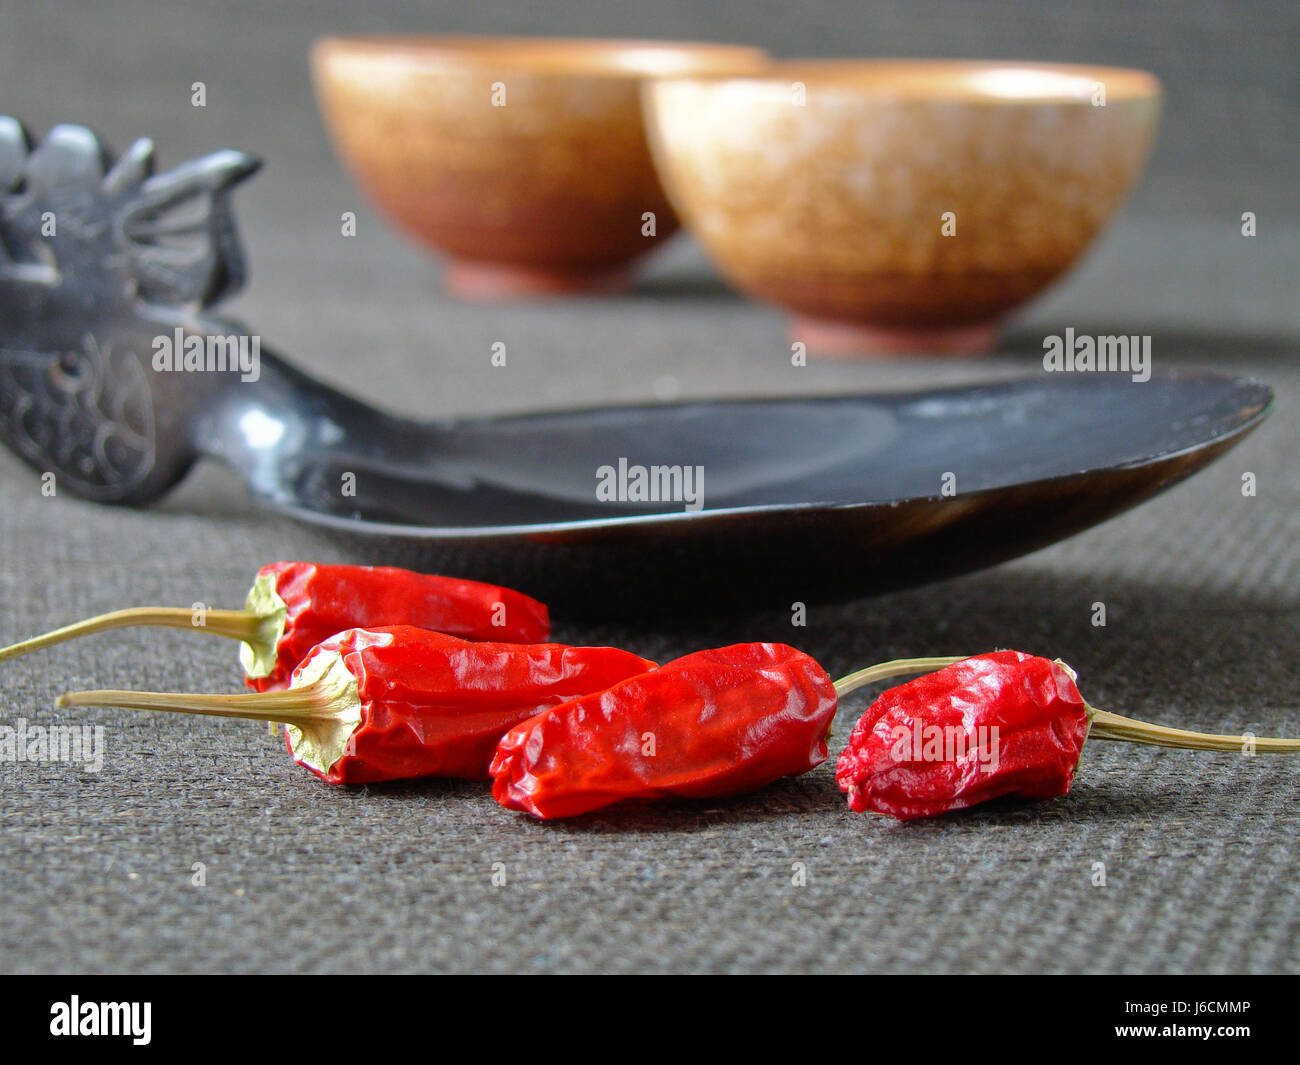
[[[283,722],[290,754],[330,784],[484,779],[497,741],[512,726],[651,668],[618,648],[469,642],[393,625],[325,640],[286,690],[73,692],[58,705]]]

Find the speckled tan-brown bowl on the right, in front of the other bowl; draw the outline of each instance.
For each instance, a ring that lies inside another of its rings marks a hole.
[[[1140,70],[826,60],[646,86],[659,174],[723,274],[820,354],[983,351],[1134,187]],[[1104,103],[1102,103],[1104,101]]]

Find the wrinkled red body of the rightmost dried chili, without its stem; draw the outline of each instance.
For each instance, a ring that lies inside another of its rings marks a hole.
[[[854,727],[836,782],[858,813],[901,821],[1001,796],[1052,798],[1070,791],[1088,726],[1062,663],[980,654],[884,692]]]

